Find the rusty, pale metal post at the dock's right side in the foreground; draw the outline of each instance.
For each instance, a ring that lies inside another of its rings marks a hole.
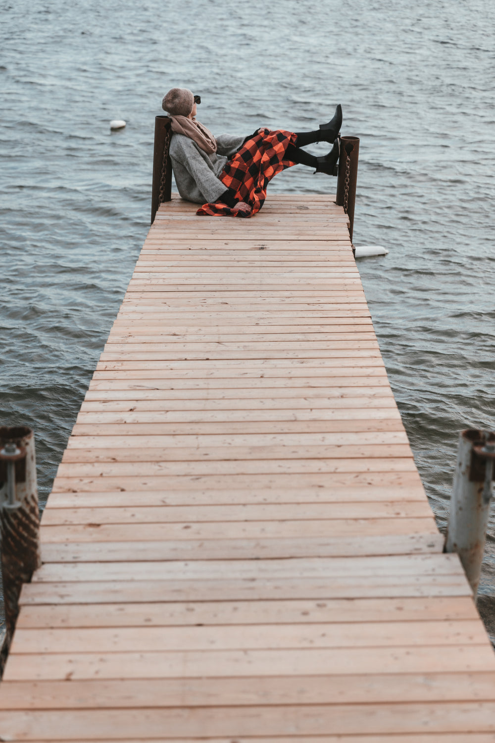
[[[459,554],[475,598],[485,550],[494,459],[495,433],[467,429],[459,434],[445,551]]]

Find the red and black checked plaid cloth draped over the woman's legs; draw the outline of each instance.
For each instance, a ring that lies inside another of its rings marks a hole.
[[[220,181],[235,192],[235,198],[249,204],[251,215],[235,212],[220,201],[216,204],[203,204],[196,213],[246,217],[259,212],[266,199],[269,181],[277,173],[295,164],[292,160],[285,159],[285,153],[289,144],[295,144],[296,140],[296,134],[284,132],[283,129],[260,129],[258,134],[243,144],[220,173]]]

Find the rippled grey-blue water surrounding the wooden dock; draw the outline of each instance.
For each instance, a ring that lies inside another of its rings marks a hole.
[[[217,134],[314,129],[342,103],[354,242],[390,250],[359,269],[445,526],[459,429],[495,428],[494,19],[488,0],[0,1],[0,413],[35,429],[42,502],[148,230],[154,116],[183,85]],[[335,180],[296,166],[272,189]],[[494,538],[491,519],[487,597]]]

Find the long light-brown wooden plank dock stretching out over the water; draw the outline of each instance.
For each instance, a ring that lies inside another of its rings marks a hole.
[[[0,739],[493,743],[346,215],[194,211],[160,207],[68,442]]]

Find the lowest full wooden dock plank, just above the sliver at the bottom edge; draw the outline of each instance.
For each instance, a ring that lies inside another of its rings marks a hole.
[[[79,665],[79,664],[78,664]],[[76,676],[76,674],[73,674]],[[422,704],[381,704],[377,710],[370,705],[307,705],[304,714],[298,706],[260,707],[257,715],[245,707],[167,708],[163,710],[57,710],[18,711],[0,713],[0,725],[7,739],[20,740],[74,740],[85,730],[85,740],[139,739],[143,723],[151,739],[170,740],[180,736],[200,739],[205,734],[214,736],[291,736],[298,730],[304,736],[332,734],[378,735],[393,733],[494,733],[495,705],[483,702],[444,702]],[[19,738],[19,736],[21,736]],[[165,737],[164,737],[165,736]],[[284,738],[282,737],[282,740]],[[337,738],[335,737],[335,740]],[[232,737],[230,737],[232,741]],[[242,740],[242,739],[241,739]],[[287,737],[285,737],[287,740]],[[352,739],[351,739],[352,740]],[[369,738],[368,738],[369,740]],[[383,740],[383,739],[382,739]],[[468,739],[469,740],[469,739]],[[347,742],[346,742],[347,743]]]

